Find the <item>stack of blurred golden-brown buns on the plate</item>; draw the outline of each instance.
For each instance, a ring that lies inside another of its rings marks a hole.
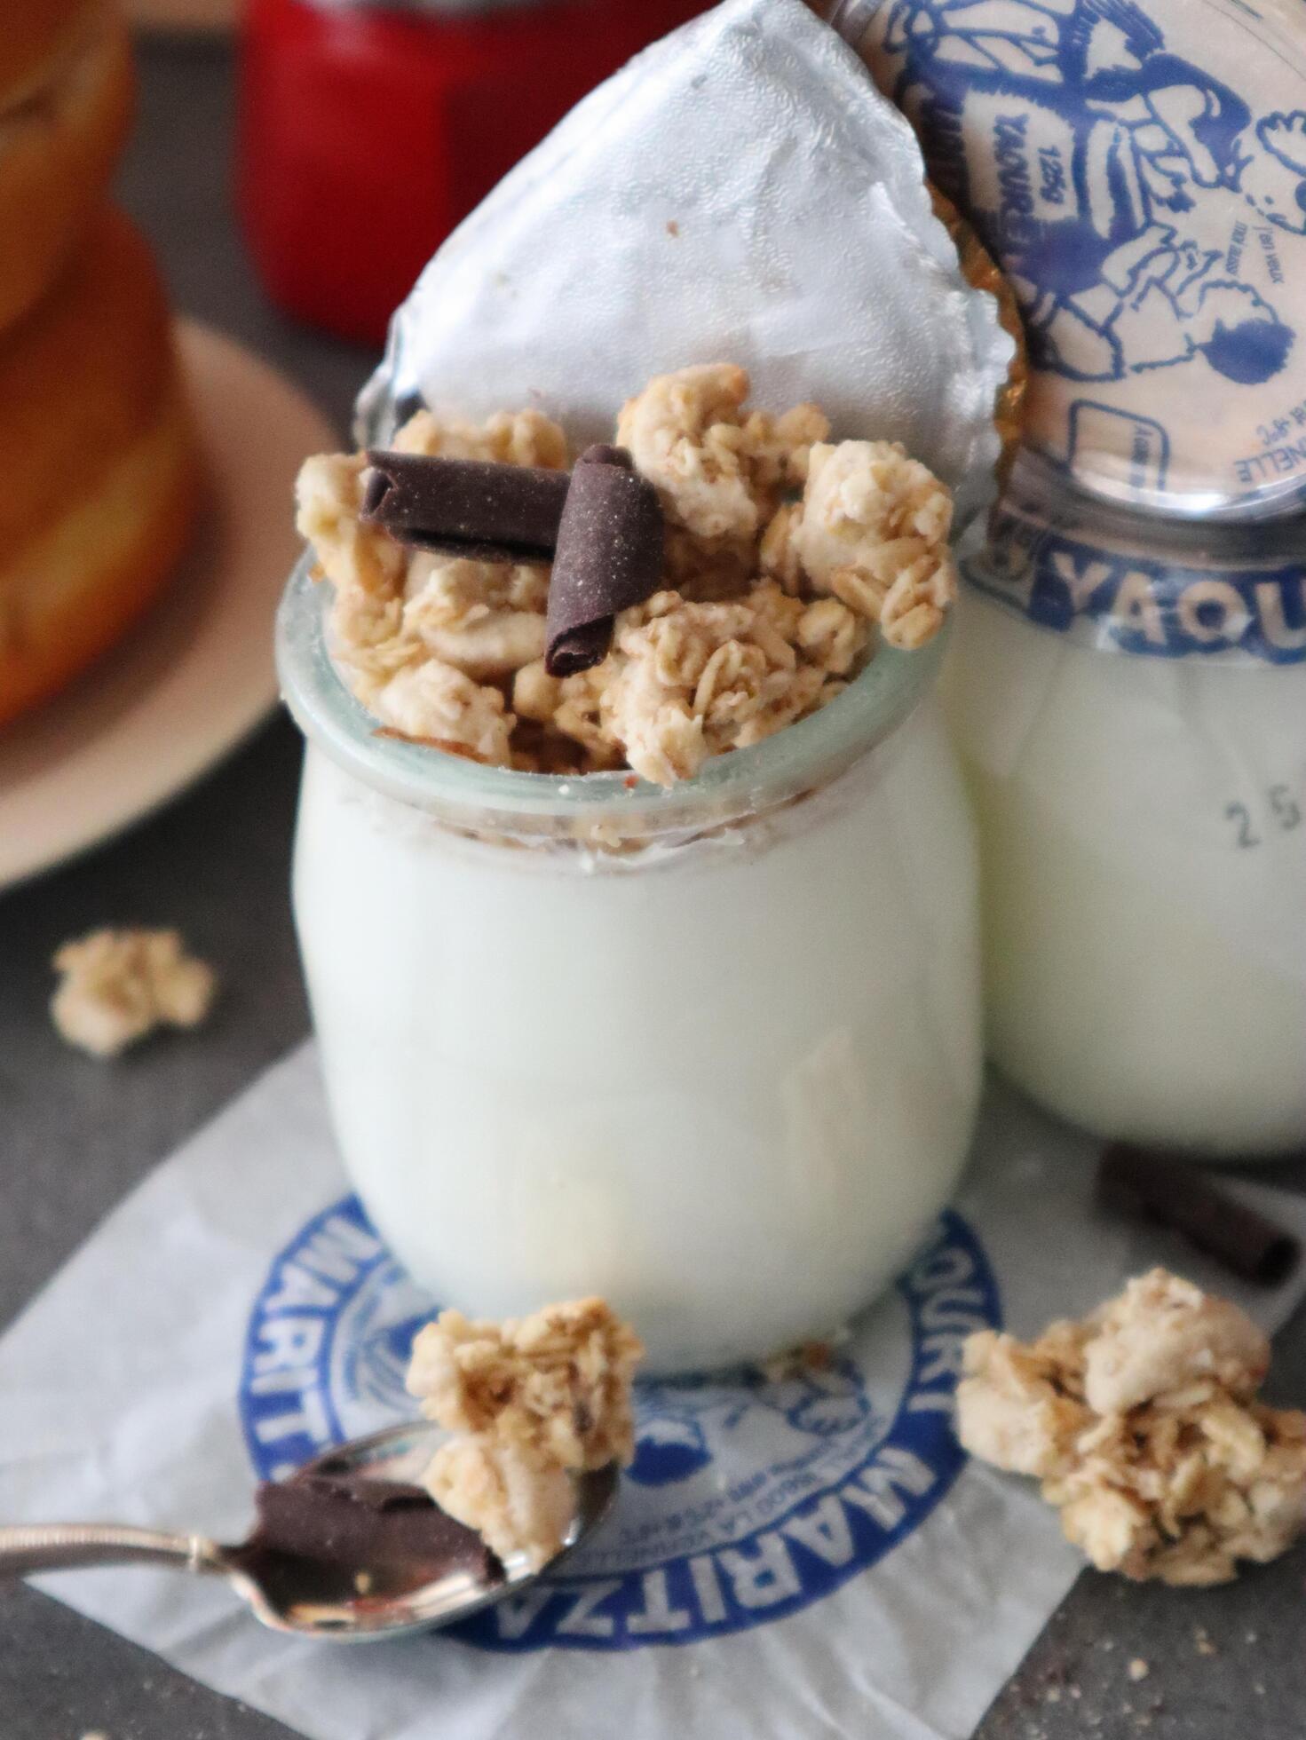
[[[110,0],[0,0],[0,726],[153,602],[198,506],[163,285],[106,204],[132,97]]]

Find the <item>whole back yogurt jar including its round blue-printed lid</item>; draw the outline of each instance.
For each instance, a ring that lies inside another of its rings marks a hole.
[[[1064,1117],[1306,1145],[1306,9],[835,0],[1007,273],[1024,452],[950,713],[988,1044]]]

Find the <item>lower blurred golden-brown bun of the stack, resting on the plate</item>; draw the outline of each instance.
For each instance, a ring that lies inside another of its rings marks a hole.
[[[0,334],[0,724],[77,675],[158,595],[200,477],[150,249],[103,209]]]

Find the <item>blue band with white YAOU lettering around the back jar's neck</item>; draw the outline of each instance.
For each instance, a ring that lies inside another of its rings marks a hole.
[[[1023,454],[986,538],[962,550],[979,592],[1080,646],[1144,658],[1306,665],[1299,524],[1146,520],[1068,491]]]

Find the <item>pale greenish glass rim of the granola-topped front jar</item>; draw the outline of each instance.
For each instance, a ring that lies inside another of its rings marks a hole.
[[[748,748],[713,755],[699,773],[671,786],[628,769],[550,774],[492,767],[421,743],[379,736],[372,713],[344,684],[327,647],[323,586],[306,550],[277,612],[277,672],[282,698],[303,734],[341,767],[376,790],[417,809],[516,821],[610,820],[621,832],[643,832],[730,811],[781,802],[842,773],[887,738],[930,687],[950,623],[927,646],[901,651],[880,644],[866,670],[819,712]]]

